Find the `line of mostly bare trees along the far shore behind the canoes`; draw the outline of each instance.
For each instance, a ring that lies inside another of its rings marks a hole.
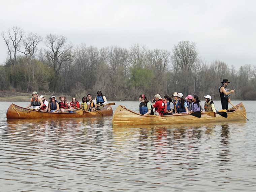
[[[256,100],[256,67],[238,70],[222,61],[204,62],[196,43],[180,41],[173,49],[98,49],[82,43],[73,46],[62,35],[25,33],[19,27],[2,32],[8,58],[0,65],[0,89],[20,92],[64,92],[82,98],[101,90],[108,100],[149,99],[155,94],[211,95],[227,78],[236,88],[232,99]],[[39,46],[40,45],[40,49]]]

